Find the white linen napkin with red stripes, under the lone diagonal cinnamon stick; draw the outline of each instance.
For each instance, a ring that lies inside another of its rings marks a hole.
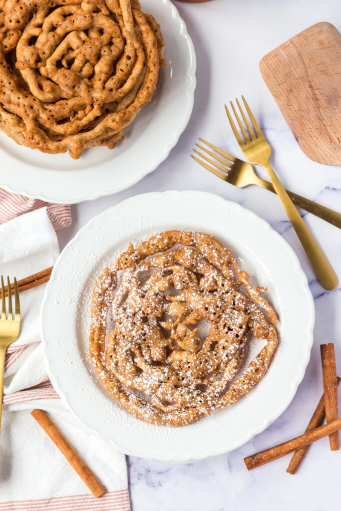
[[[47,208],[19,216],[0,226],[0,273],[11,282],[53,266],[58,240]],[[89,433],[66,410],[54,390],[43,357],[39,312],[46,284],[20,293],[19,338],[9,346],[5,362],[0,434],[1,511],[129,511],[127,468],[118,453]],[[34,408],[51,420],[104,485],[96,499],[48,435],[33,419]]]

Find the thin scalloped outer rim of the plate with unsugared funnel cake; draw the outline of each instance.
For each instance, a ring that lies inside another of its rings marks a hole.
[[[188,43],[189,48],[189,56],[190,56],[190,62],[191,65],[188,69],[187,78],[189,78],[188,87],[186,88],[186,94],[187,94],[187,111],[186,115],[183,118],[183,122],[181,125],[178,126],[177,130],[174,132],[174,136],[169,139],[168,143],[165,144],[164,151],[162,154],[160,154],[157,158],[155,157],[149,164],[147,164],[142,170],[135,174],[134,177],[126,182],[125,184],[122,184],[118,187],[110,187],[110,188],[101,188],[100,191],[97,191],[96,193],[91,193],[90,190],[86,194],[82,194],[81,196],[74,197],[73,199],[67,198],[67,199],[58,199],[56,197],[49,197],[49,194],[45,194],[44,192],[27,192],[26,190],[22,189],[22,185],[20,187],[20,184],[17,186],[8,184],[8,183],[1,183],[1,187],[6,190],[7,192],[14,193],[16,195],[24,195],[25,197],[28,197],[30,199],[39,199],[43,200],[45,202],[50,202],[53,204],[78,204],[83,201],[87,200],[95,200],[100,197],[105,197],[107,195],[112,195],[114,193],[122,192],[123,190],[126,190],[130,187],[132,187],[134,184],[138,183],[146,177],[148,174],[153,172],[157,169],[158,166],[162,164],[163,161],[167,158],[171,150],[176,146],[176,144],[179,141],[179,138],[181,134],[185,131],[189,120],[192,115],[193,106],[194,106],[194,92],[196,88],[196,54],[194,49],[194,44],[192,41],[191,36],[188,33],[186,23],[184,19],[180,16],[178,9],[176,6],[171,2],[171,0],[162,0],[162,3],[165,6],[168,6],[172,11],[172,18],[176,19],[179,22],[179,34],[183,35],[186,38],[186,41]],[[185,89],[184,89],[185,92]],[[29,148],[28,148],[29,149]],[[51,155],[53,156],[53,155]],[[10,161],[13,159],[12,156],[10,156]],[[149,160],[150,161],[150,160]],[[17,165],[20,165],[20,161],[18,161]],[[30,169],[35,169],[35,166],[32,164],[26,164],[27,171],[30,171]],[[81,171],[81,169],[80,169]],[[35,184],[36,186],[36,184]],[[26,188],[26,185],[24,185]]]

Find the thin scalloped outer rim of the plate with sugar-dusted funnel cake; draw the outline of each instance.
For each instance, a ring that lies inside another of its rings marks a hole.
[[[129,449],[123,449],[119,444],[117,444],[115,442],[115,440],[112,440],[111,438],[106,438],[105,436],[101,435],[97,431],[97,429],[92,428],[92,427],[88,426],[86,423],[84,423],[83,420],[81,420],[78,417],[78,415],[71,408],[65,393],[63,391],[61,391],[59,386],[58,386],[58,381],[57,381],[58,378],[55,378],[55,376],[53,375],[53,373],[51,371],[50,362],[49,362],[49,359],[48,359],[48,356],[47,356],[47,353],[46,353],[46,351],[47,351],[47,342],[46,342],[46,339],[45,339],[44,333],[43,333],[43,310],[44,310],[45,304],[47,303],[47,301],[49,299],[49,289],[50,289],[50,287],[52,285],[54,274],[57,271],[56,268],[57,268],[58,264],[60,264],[60,262],[62,261],[64,252],[66,252],[69,249],[69,247],[72,246],[72,244],[78,240],[78,238],[82,235],[82,232],[85,231],[86,229],[88,229],[92,225],[92,223],[97,221],[97,219],[99,219],[101,217],[104,217],[105,215],[109,214],[109,212],[111,212],[111,211],[119,210],[119,208],[122,207],[123,204],[125,204],[125,203],[127,203],[127,202],[129,202],[131,200],[134,200],[134,199],[137,199],[137,198],[141,198],[141,197],[146,197],[146,196],[148,196],[148,197],[151,197],[151,196],[164,196],[164,195],[169,195],[169,194],[178,194],[178,195],[187,195],[187,194],[193,195],[193,194],[195,194],[195,195],[200,195],[201,197],[202,197],[202,195],[209,195],[209,196],[213,197],[215,200],[223,202],[225,204],[225,206],[230,206],[230,207],[232,206],[232,207],[235,207],[237,210],[238,209],[239,210],[243,210],[244,212],[246,212],[250,216],[255,217],[257,221],[260,221],[263,224],[264,228],[267,229],[268,231],[271,231],[271,233],[276,236],[278,241],[280,243],[282,243],[282,245],[285,247],[285,249],[290,254],[290,257],[292,259],[292,262],[294,263],[295,269],[297,269],[297,271],[300,273],[301,278],[302,278],[301,284],[304,285],[304,291],[305,291],[305,294],[307,296],[307,308],[309,308],[309,318],[310,318],[310,322],[309,322],[309,324],[307,324],[307,330],[306,330],[307,342],[306,342],[306,349],[305,349],[305,352],[304,352],[305,356],[302,357],[301,365],[300,365],[300,367],[297,368],[296,373],[295,373],[295,375],[296,375],[295,381],[291,384],[290,392],[289,392],[289,389],[288,389],[288,397],[287,397],[286,401],[283,401],[281,406],[279,406],[279,409],[278,409],[279,411],[277,410],[276,413],[272,414],[272,415],[269,413],[269,415],[266,418],[266,420],[259,422],[258,428],[256,428],[256,429],[253,428],[252,430],[250,429],[248,434],[245,435],[245,437],[242,440],[239,440],[235,445],[233,445],[233,447],[231,449],[229,449],[227,451],[226,451],[226,449],[222,448],[222,449],[217,449],[214,452],[212,450],[210,450],[210,452],[205,454],[205,455],[201,454],[201,455],[195,456],[192,453],[193,457],[186,456],[186,457],[183,457],[181,459],[176,459],[176,460],[174,460],[174,459],[172,460],[172,459],[169,459],[169,457],[162,457],[162,456],[155,458],[154,456],[148,456],[148,454],[145,454],[145,453],[142,455],[141,453],[138,453],[138,452],[135,452],[135,451],[131,451]],[[42,300],[42,304],[41,304],[41,309],[40,309],[40,332],[41,332],[41,340],[42,340],[42,344],[43,344],[43,353],[44,353],[44,358],[45,358],[46,364],[47,364],[48,374],[50,376],[50,379],[52,381],[53,386],[55,387],[57,393],[61,397],[63,403],[66,404],[67,408],[74,414],[74,416],[77,417],[77,419],[80,421],[80,423],[88,431],[90,431],[92,434],[96,434],[97,436],[99,436],[100,438],[102,438],[103,440],[108,442],[110,445],[115,447],[120,452],[122,452],[124,454],[127,454],[129,456],[130,455],[131,456],[138,456],[138,457],[143,457],[144,459],[159,460],[159,461],[164,461],[164,462],[168,462],[168,463],[190,463],[190,462],[199,461],[200,459],[206,459],[206,458],[209,458],[209,457],[218,456],[218,455],[221,455],[221,454],[232,452],[235,449],[238,449],[239,447],[245,445],[247,442],[249,442],[249,440],[254,438],[256,435],[262,433],[267,427],[269,427],[273,422],[275,422],[284,413],[284,411],[287,409],[287,407],[290,405],[292,399],[294,398],[294,396],[295,396],[295,394],[297,392],[297,389],[298,389],[300,383],[302,382],[302,380],[304,378],[306,367],[307,367],[307,365],[309,363],[309,360],[310,360],[311,348],[312,348],[312,345],[313,345],[314,321],[315,321],[315,307],[314,307],[314,300],[313,300],[313,297],[312,297],[312,294],[311,294],[311,291],[310,291],[309,285],[308,285],[308,278],[307,278],[306,274],[304,273],[304,271],[302,269],[302,266],[301,266],[301,263],[299,261],[299,258],[297,256],[297,254],[294,252],[294,250],[289,245],[289,243],[287,243],[286,240],[274,228],[272,228],[271,225],[266,220],[264,220],[263,218],[259,217],[253,211],[248,210],[246,207],[242,206],[241,204],[239,204],[237,202],[233,202],[233,201],[228,200],[228,199],[224,199],[220,195],[217,195],[217,194],[212,193],[212,192],[203,192],[203,191],[198,191],[198,190],[184,190],[184,191],[167,190],[167,191],[164,191],[164,192],[147,192],[147,193],[143,193],[143,194],[134,195],[132,197],[129,197],[129,198],[121,201],[119,204],[117,204],[115,206],[111,206],[111,207],[107,208],[106,210],[104,210],[99,215],[96,215],[95,217],[90,219],[83,227],[81,227],[78,230],[78,232],[72,238],[72,240],[70,240],[69,243],[67,243],[67,245],[65,245],[63,250],[60,252],[59,257],[58,257],[58,259],[57,259],[57,261],[56,261],[56,263],[54,265],[54,268],[52,270],[50,280],[49,280],[49,282],[47,284],[47,287],[45,289],[43,300]]]

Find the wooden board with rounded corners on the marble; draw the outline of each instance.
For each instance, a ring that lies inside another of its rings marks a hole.
[[[341,35],[322,22],[260,61],[266,85],[308,158],[341,165]]]

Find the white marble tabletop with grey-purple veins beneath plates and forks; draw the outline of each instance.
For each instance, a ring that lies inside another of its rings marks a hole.
[[[143,0],[141,0],[143,3]],[[155,0],[157,1],[157,0]],[[266,431],[240,449],[187,465],[130,457],[133,511],[286,511],[337,508],[341,451],[324,438],[309,450],[297,475],[285,472],[289,457],[247,472],[243,457],[301,434],[322,394],[319,344],[334,342],[341,372],[341,291],[326,292],[316,281],[300,243],[276,196],[256,187],[239,190],[204,171],[189,153],[198,136],[242,156],[223,104],[243,94],[274,149],[272,162],[286,187],[341,211],[341,170],[310,161],[300,150],[264,84],[260,58],[318,21],[341,29],[339,0],[213,0],[174,2],[186,21],[197,55],[197,89],[192,118],[177,146],[155,172],[132,188],[72,206],[73,225],[59,233],[61,248],[89,219],[107,207],[149,191],[207,190],[234,200],[268,221],[300,258],[314,296],[316,324],[311,360],[290,406]],[[165,120],[166,122],[167,120]],[[265,177],[262,174],[262,177]],[[312,233],[341,278],[341,233],[306,215]],[[203,439],[204,441],[204,439]]]

